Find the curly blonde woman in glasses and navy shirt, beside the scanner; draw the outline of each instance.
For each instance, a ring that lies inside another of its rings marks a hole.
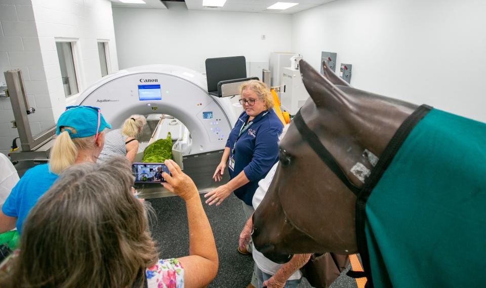
[[[228,165],[230,181],[206,194],[209,205],[221,203],[234,191],[243,202],[247,219],[254,209],[252,199],[258,181],[278,161],[278,136],[284,125],[273,112],[273,99],[267,86],[258,80],[241,85],[240,104],[245,112],[239,115],[226,141],[221,163],[213,178],[221,181]]]

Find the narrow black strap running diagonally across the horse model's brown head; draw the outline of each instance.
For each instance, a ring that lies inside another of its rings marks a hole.
[[[319,156],[320,160],[326,163],[329,169],[331,169],[331,171],[333,171],[333,173],[339,179],[341,179],[341,181],[346,185],[346,187],[348,187],[352,191],[352,193],[354,193],[354,195],[358,196],[359,188],[351,183],[348,176],[346,176],[346,173],[344,173],[341,166],[339,166],[336,158],[334,158],[329,150],[327,150],[326,147],[322,145],[317,135],[312,132],[307,124],[305,124],[304,119],[302,119],[302,115],[300,114],[300,110],[295,115],[293,122],[297,126],[297,130],[302,135],[302,139],[304,139],[308,143],[308,145],[312,148],[315,154]]]

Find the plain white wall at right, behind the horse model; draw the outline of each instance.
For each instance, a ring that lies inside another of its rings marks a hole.
[[[339,0],[292,17],[292,50],[352,64],[356,88],[486,122],[486,2]]]

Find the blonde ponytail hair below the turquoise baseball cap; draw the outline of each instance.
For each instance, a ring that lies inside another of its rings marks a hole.
[[[95,135],[71,139],[70,134],[76,133],[76,129],[64,126],[59,130],[61,133],[54,140],[49,156],[49,171],[54,174],[60,174],[74,164],[79,150],[96,148]]]

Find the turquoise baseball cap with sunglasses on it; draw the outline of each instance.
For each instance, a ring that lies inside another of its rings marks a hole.
[[[95,138],[98,138],[98,133],[103,131],[103,129],[111,129],[111,125],[106,123],[103,115],[101,115],[101,110],[93,106],[66,107],[66,111],[57,120],[57,135],[61,133],[60,128],[64,126],[76,129],[76,133],[71,133],[70,130],[66,130],[71,139],[93,135],[96,135]]]

